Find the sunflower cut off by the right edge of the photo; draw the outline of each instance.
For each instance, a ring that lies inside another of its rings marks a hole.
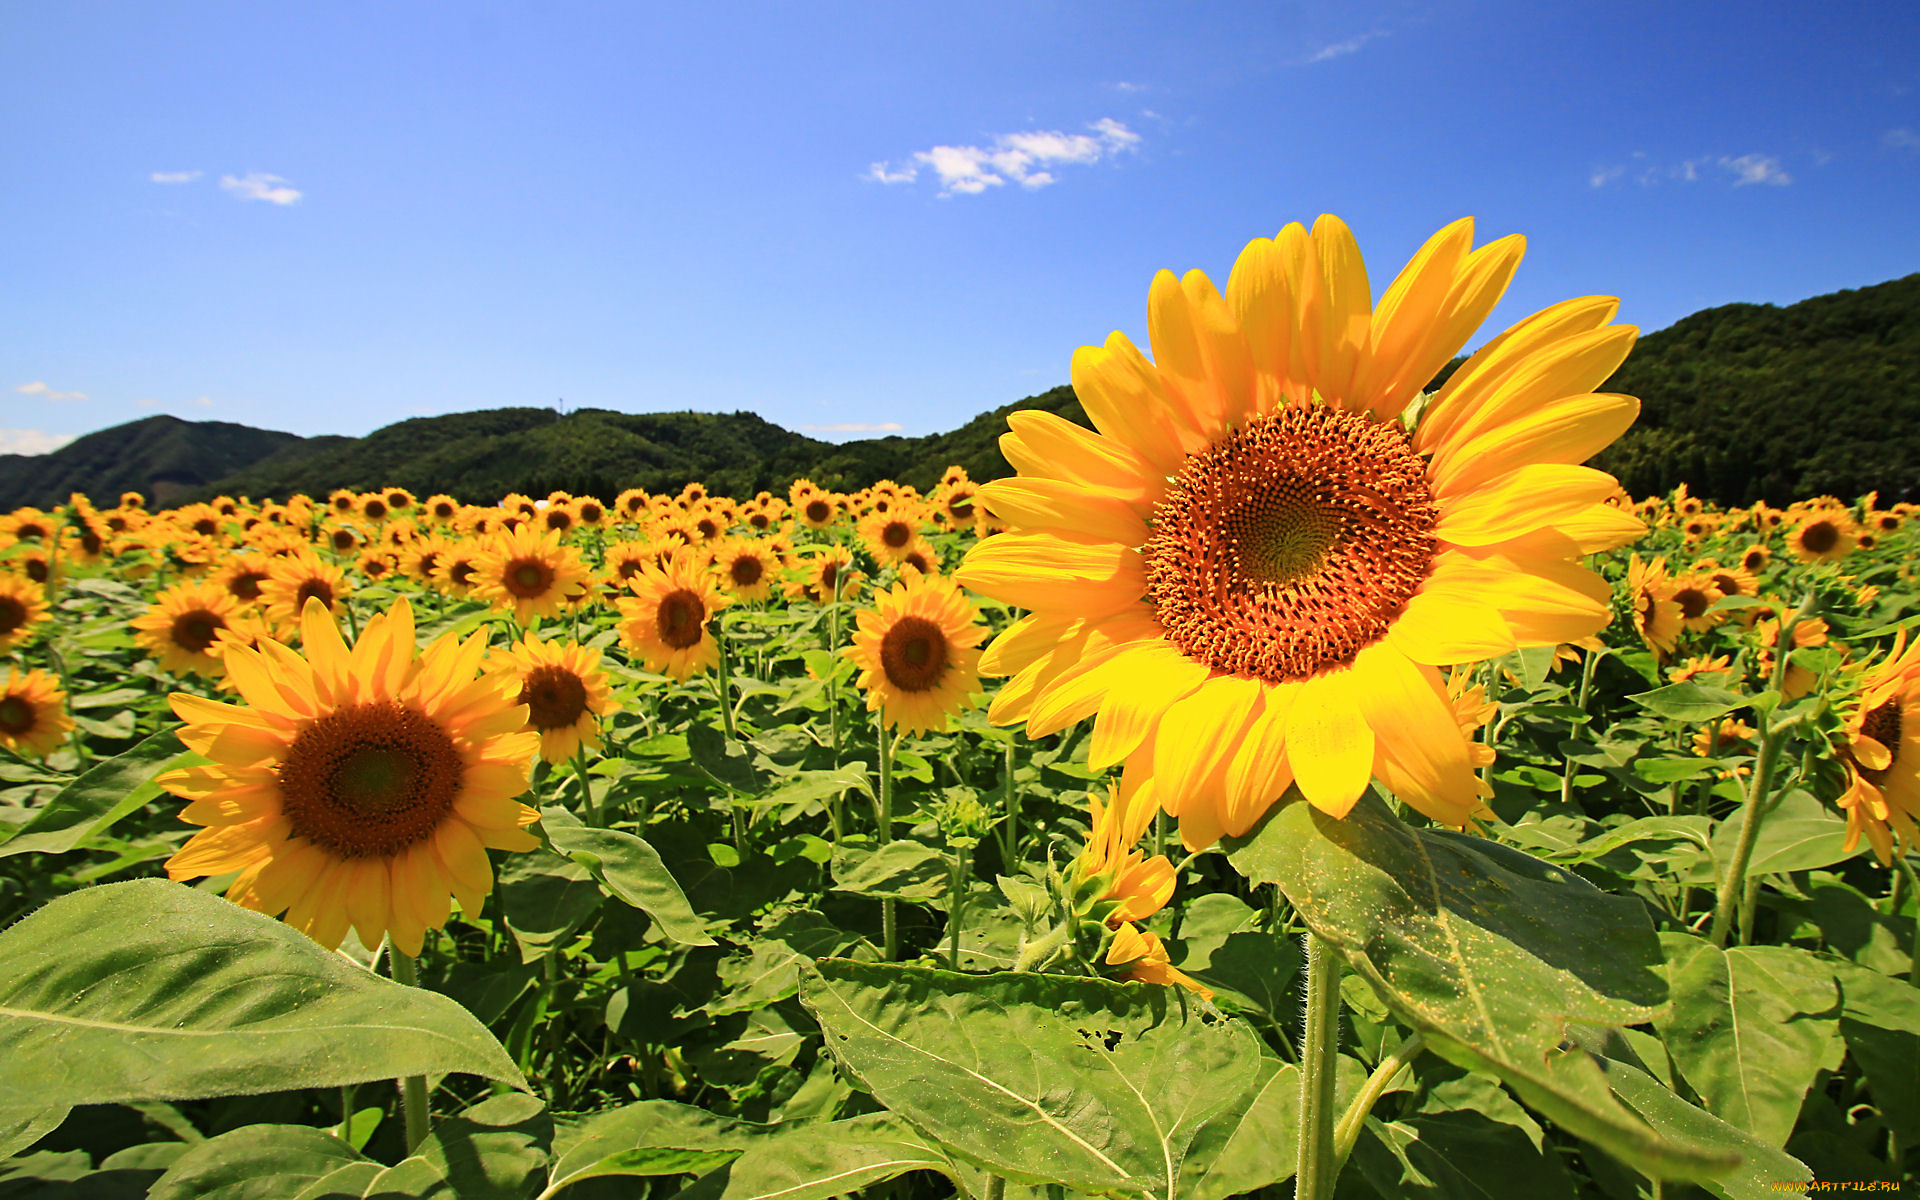
[[[1905,643],[1841,705],[1847,712],[1841,762],[1847,791],[1837,804],[1847,814],[1847,851],[1860,835],[1882,864],[1893,864],[1893,841],[1920,845],[1920,641]]]

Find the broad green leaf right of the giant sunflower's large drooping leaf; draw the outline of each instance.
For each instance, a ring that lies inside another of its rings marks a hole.
[[[1665,933],[1672,1008],[1655,1021],[1680,1075],[1728,1125],[1784,1146],[1839,1037],[1839,987],[1793,947],[1720,950]]]

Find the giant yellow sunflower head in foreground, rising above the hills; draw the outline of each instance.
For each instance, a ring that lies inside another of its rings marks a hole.
[[[1578,467],[1634,419],[1592,394],[1626,357],[1617,301],[1571,300],[1488,342],[1409,415],[1500,300],[1521,238],[1455,221],[1375,305],[1346,227],[1290,225],[1225,298],[1194,271],[1148,296],[1156,361],[1123,336],[1073,355],[1098,432],[1044,411],[1000,438],[1008,524],[958,578],[1029,609],[995,641],[996,722],[1094,716],[1091,766],[1125,762],[1192,849],[1244,833],[1296,781],[1342,816],[1369,778],[1450,826],[1478,804],[1440,666],[1607,622],[1580,557],[1642,522]]]

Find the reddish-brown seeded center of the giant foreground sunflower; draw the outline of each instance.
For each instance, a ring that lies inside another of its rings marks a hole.
[[[1398,424],[1286,407],[1181,467],[1142,547],[1146,597],[1188,659],[1302,680],[1386,634],[1432,566],[1436,520]]]

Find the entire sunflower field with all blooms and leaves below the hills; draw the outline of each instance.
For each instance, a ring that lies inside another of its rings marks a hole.
[[[937,490],[0,516],[0,1198],[1920,1173],[1914,509],[1582,467],[1519,238],[1162,273]]]

